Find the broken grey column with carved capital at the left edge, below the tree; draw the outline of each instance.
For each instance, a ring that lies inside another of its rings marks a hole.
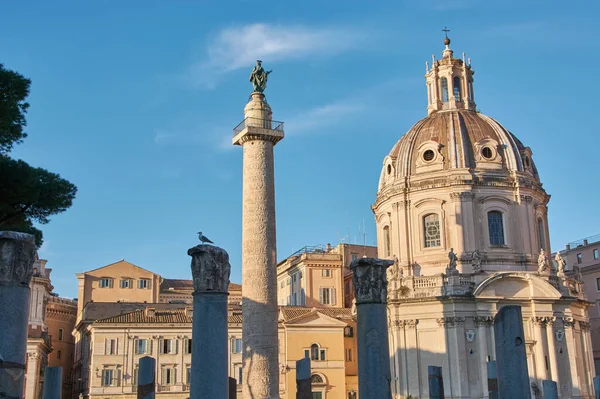
[[[23,397],[29,282],[36,250],[32,235],[0,231],[0,397]]]

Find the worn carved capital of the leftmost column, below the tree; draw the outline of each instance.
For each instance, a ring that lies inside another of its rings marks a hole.
[[[36,258],[34,236],[0,231],[0,284],[29,287]]]

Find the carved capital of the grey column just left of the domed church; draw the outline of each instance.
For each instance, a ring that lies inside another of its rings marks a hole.
[[[386,269],[392,260],[358,258],[350,264],[356,304],[387,303]]]

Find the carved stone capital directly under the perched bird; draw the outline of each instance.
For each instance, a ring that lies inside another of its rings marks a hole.
[[[192,257],[194,292],[228,292],[229,254],[214,245],[196,245],[188,250]]]

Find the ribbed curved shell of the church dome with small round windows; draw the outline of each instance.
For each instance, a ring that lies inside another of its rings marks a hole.
[[[539,182],[529,148],[494,119],[459,109],[434,112],[400,138],[384,159],[379,190],[397,180],[452,169],[523,172]]]

